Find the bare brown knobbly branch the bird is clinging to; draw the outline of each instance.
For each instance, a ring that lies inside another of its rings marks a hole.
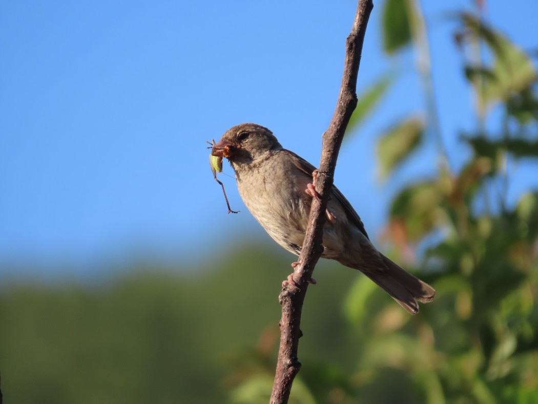
[[[282,319],[280,321],[280,349],[277,370],[271,393],[271,403],[273,404],[288,402],[293,380],[301,367],[298,360],[298,347],[299,337],[302,335],[300,330],[302,305],[305,301],[308,281],[312,278],[314,267],[323,252],[321,243],[324,212],[332,189],[338,151],[351,114],[357,106],[357,75],[366,25],[372,8],[372,0],[359,0],[355,21],[346,40],[342,86],[329,129],[323,134],[320,169],[316,182],[316,191],[320,194],[321,200],[312,199],[312,208],[299,257],[299,265],[295,267],[293,273],[293,280],[300,288],[288,285],[286,289],[282,290],[279,297],[282,305]]]

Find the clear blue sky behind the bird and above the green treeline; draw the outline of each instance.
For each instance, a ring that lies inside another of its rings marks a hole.
[[[454,135],[475,122],[444,12],[470,2],[422,3],[457,166],[465,151]],[[374,137],[423,105],[410,53],[392,61],[381,53],[375,4],[359,92],[387,69],[401,78],[345,144],[335,178],[373,238],[402,182],[435,167],[426,148],[394,179],[376,177]],[[317,165],[355,9],[351,0],[0,3],[0,262],[39,266],[39,276],[68,262],[77,276],[102,261],[192,263],[244,238],[272,243],[221,175],[242,210],[226,214],[205,141],[256,122]],[[536,15],[534,0],[509,10],[489,2],[491,23],[527,50],[538,47]],[[523,176],[511,192],[530,184]]]

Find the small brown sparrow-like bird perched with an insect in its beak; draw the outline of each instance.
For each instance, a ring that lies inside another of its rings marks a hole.
[[[316,168],[284,149],[271,130],[255,123],[226,131],[211,155],[228,159],[241,198],[271,238],[300,255],[312,200],[319,197]],[[433,300],[433,287],[374,247],[359,215],[334,185],[325,219],[322,257],[361,271],[410,314],[419,312],[417,302]],[[293,282],[291,275],[288,280]]]

